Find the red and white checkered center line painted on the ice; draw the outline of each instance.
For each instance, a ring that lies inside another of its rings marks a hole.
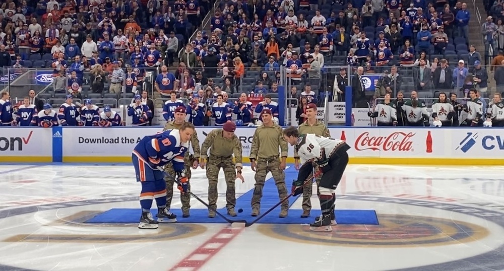
[[[243,229],[224,228],[213,235],[201,246],[196,248],[191,254],[179,261],[169,271],[177,270],[198,270],[207,263],[213,256],[233,240]],[[195,259],[193,259],[195,258]]]

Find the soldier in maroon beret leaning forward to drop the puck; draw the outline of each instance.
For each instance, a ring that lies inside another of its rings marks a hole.
[[[235,217],[236,212],[234,207],[236,205],[235,186],[234,181],[240,178],[241,169],[243,168],[241,157],[241,143],[238,137],[234,134],[236,124],[234,122],[226,122],[222,129],[214,129],[208,133],[207,138],[201,146],[201,168],[205,169],[207,166],[208,178],[208,217],[215,217],[215,210],[217,209],[217,181],[219,179],[219,171],[224,170],[224,177],[226,180],[226,209],[230,216]],[[207,159],[208,149],[210,148],[210,155]],[[233,162],[233,154],[235,162]],[[205,162],[205,159],[208,161]]]

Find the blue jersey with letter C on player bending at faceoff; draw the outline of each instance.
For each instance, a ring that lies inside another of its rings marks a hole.
[[[135,146],[133,154],[154,170],[157,170],[156,166],[162,167],[171,162],[175,172],[182,172],[188,148],[188,142],[181,142],[179,131],[172,129],[147,135]]]

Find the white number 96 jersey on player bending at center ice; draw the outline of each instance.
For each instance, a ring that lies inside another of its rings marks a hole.
[[[296,150],[301,160],[301,165],[304,165],[308,162],[321,160],[323,152],[325,152],[326,158],[329,158],[345,145],[346,142],[342,140],[324,138],[320,135],[308,133],[299,135]]]

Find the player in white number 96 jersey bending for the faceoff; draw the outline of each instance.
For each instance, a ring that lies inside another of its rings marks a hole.
[[[310,224],[310,230],[332,231],[331,225],[336,225],[336,221],[331,221],[331,212],[336,201],[336,196],[333,194],[348,164],[347,151],[350,146],[345,141],[337,139],[311,133],[299,134],[299,130],[294,126],[287,127],[283,134],[285,141],[295,146],[302,164],[297,180],[292,183],[294,195],[303,192],[303,183],[313,171],[313,163],[317,164],[319,170],[315,174],[322,175],[319,183],[322,215]]]

